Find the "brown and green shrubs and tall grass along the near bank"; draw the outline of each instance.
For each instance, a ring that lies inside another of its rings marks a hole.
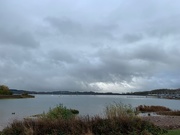
[[[78,111],[59,105],[36,119],[14,121],[1,135],[161,135],[167,133],[135,115],[123,104],[105,108],[105,115],[77,116]]]

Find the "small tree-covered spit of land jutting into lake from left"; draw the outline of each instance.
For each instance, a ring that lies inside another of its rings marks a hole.
[[[34,98],[35,96],[23,93],[21,95],[14,95],[13,92],[6,85],[0,85],[0,99],[19,99],[19,98]]]

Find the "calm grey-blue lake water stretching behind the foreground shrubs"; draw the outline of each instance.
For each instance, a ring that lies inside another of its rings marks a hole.
[[[174,110],[180,110],[180,100],[159,99],[145,96],[114,96],[114,95],[35,95],[27,99],[0,100],[0,126],[7,125],[13,119],[22,119],[34,114],[47,112],[58,104],[67,108],[78,109],[80,115],[103,115],[105,106],[123,103],[138,105],[162,105]],[[12,113],[15,112],[15,115]]]

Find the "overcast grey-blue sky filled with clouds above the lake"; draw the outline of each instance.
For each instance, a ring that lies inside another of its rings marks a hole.
[[[180,88],[179,0],[0,0],[0,84]]]

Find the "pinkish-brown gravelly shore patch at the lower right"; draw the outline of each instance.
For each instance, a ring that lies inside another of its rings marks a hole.
[[[143,120],[166,129],[180,129],[180,116],[143,116]]]

